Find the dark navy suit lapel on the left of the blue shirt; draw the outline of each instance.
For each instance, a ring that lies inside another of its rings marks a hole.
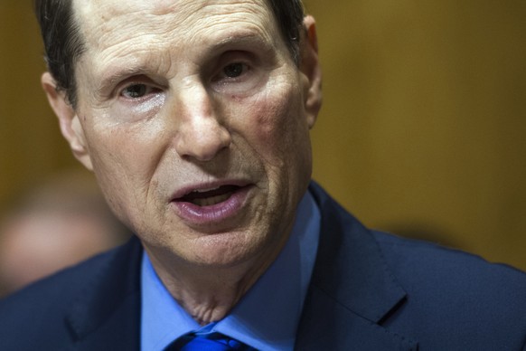
[[[138,351],[141,256],[140,242],[133,238],[88,282],[66,318],[74,349]]]

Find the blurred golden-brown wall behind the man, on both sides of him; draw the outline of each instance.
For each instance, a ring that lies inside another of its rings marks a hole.
[[[77,167],[29,4],[0,3],[0,210]],[[526,2],[305,5],[324,67],[315,179],[371,227],[526,270]]]

